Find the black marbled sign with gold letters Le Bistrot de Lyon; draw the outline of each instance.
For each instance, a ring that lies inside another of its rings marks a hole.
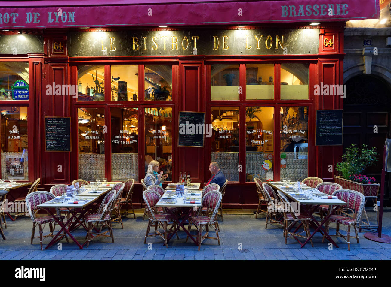
[[[111,31],[68,33],[80,56],[317,54],[319,29]]]

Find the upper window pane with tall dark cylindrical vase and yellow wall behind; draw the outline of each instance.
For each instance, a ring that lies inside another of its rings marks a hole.
[[[110,100],[138,100],[138,65],[111,66]]]

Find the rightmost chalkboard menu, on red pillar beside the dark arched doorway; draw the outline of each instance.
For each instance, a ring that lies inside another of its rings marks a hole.
[[[341,146],[343,110],[316,110],[316,145]]]

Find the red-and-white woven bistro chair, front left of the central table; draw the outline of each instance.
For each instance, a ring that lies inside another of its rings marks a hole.
[[[176,223],[170,214],[166,214],[166,213],[158,214],[157,213],[156,203],[158,203],[158,201],[161,198],[160,194],[157,191],[147,189],[146,191],[143,191],[143,198],[144,198],[145,206],[146,206],[146,209],[148,212],[148,217],[149,217],[147,231],[145,232],[144,244],[147,242],[147,237],[160,236],[164,240],[164,243],[166,244],[166,248],[167,248],[168,247],[167,234],[174,232],[174,231],[167,232],[169,222],[172,221],[172,228],[174,228],[174,229],[176,228]],[[149,234],[149,231],[150,231],[152,225],[155,225],[155,230],[154,230],[153,234]],[[163,228],[163,233],[158,231],[158,226],[161,226]],[[175,233],[175,234],[176,234],[176,237],[179,239],[178,234],[177,233]]]

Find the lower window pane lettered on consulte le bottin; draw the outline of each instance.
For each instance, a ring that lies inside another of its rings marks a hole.
[[[308,177],[308,107],[280,108],[280,178]]]

